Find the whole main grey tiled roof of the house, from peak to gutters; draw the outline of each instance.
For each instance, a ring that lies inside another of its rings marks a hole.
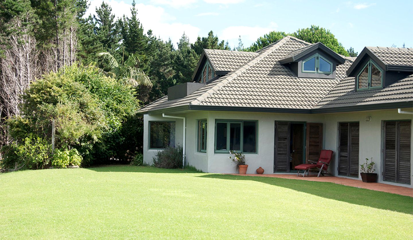
[[[226,54],[240,54],[243,58],[253,57],[244,64],[237,62],[237,64],[240,64],[237,69],[219,77],[184,98],[168,101],[167,96],[165,96],[142,107],[140,112],[178,106],[265,107],[311,110],[314,108],[349,106],[359,104],[359,102],[364,104],[380,103],[380,101],[387,103],[392,99],[394,101],[401,99],[413,100],[413,77],[396,82],[385,89],[355,92],[354,78],[347,77],[346,74],[354,58],[344,57],[344,64],[337,65],[336,79],[299,78],[289,68],[279,63],[281,59],[284,59],[293,51],[305,49],[310,45],[295,37],[287,36],[257,51],[255,54],[248,53],[250,55],[245,52],[207,50],[207,54],[220,53],[211,61],[218,63],[218,65],[222,64],[222,66],[226,63],[216,61],[217,59],[237,58],[228,57]],[[228,67],[226,66],[226,68]],[[406,86],[403,85],[404,82]],[[377,93],[377,95],[370,96],[369,94],[372,93]]]

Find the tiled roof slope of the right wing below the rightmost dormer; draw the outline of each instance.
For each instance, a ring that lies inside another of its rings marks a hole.
[[[413,75],[383,89],[354,91],[354,77],[347,77],[335,86],[314,109],[347,107],[377,103],[396,103],[413,100]]]

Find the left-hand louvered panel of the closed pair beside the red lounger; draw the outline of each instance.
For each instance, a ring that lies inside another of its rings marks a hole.
[[[349,174],[349,123],[339,124],[338,174]]]

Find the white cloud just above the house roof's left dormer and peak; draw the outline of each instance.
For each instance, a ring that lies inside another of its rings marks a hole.
[[[225,41],[228,40],[230,46],[235,46],[235,44],[238,44],[238,37],[241,36],[241,40],[244,43],[244,46],[246,46],[249,45],[249,42],[255,42],[258,37],[271,31],[275,31],[277,27],[277,23],[274,22],[271,22],[268,27],[230,26],[222,30],[219,38]]]

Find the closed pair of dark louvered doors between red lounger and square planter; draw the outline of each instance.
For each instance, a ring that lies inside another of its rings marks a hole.
[[[338,174],[358,177],[359,123],[339,123]]]

